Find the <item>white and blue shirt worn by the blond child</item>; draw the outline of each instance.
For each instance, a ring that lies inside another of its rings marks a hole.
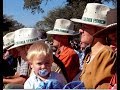
[[[64,85],[64,77],[57,72],[51,72],[45,81],[40,80],[35,73],[33,73],[26,80],[24,89],[62,89]]]

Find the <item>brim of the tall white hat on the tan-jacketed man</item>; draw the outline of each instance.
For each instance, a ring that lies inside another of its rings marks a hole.
[[[83,21],[82,19],[71,18],[70,20],[73,22],[88,24],[88,25],[97,26],[97,27],[106,27],[106,26],[103,26],[101,24]]]

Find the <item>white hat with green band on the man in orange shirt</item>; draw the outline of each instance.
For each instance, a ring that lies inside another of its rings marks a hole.
[[[74,31],[74,24],[67,19],[56,19],[54,29],[47,31],[47,34],[57,35],[78,35],[79,32]]]

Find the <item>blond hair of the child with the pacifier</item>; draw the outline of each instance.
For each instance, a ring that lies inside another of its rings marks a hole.
[[[37,41],[30,46],[27,52],[27,59],[32,61],[34,56],[48,56],[53,60],[53,53],[51,47],[43,41]]]

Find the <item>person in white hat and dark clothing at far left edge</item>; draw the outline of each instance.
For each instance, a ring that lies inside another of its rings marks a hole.
[[[14,75],[15,68],[17,66],[16,54],[12,54],[9,50],[7,50],[10,46],[14,44],[13,42],[14,32],[9,32],[3,36],[3,76],[7,77],[10,75]]]

